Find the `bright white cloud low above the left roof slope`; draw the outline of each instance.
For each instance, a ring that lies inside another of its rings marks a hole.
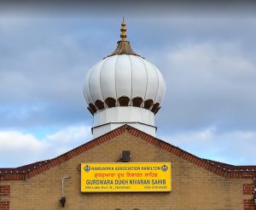
[[[32,133],[0,131],[0,166],[18,167],[61,155],[90,139],[90,128],[67,127],[44,139]]]

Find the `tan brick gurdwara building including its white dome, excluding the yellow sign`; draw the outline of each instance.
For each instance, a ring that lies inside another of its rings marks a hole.
[[[123,22],[118,48],[95,65],[87,77],[84,96],[94,116],[93,139],[54,159],[0,168],[0,210],[256,209],[256,166],[202,159],[155,137],[154,115],[160,110],[165,83],[154,65],[132,51],[125,31]],[[119,69],[132,72],[130,86],[127,74]],[[137,69],[146,73],[145,81],[145,75]],[[108,76],[102,77],[104,71]],[[113,93],[112,71],[116,82]],[[125,94],[129,88],[132,94]],[[123,151],[131,153],[128,161],[133,163],[172,163],[172,190],[81,192],[81,163],[122,164]],[[64,196],[62,205],[60,199]]]

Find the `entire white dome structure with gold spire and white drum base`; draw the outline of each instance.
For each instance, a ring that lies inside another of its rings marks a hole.
[[[166,83],[155,65],[131,49],[124,20],[120,31],[114,52],[90,68],[86,77],[84,98],[93,115],[91,132],[97,138],[127,124],[155,136],[154,115]]]

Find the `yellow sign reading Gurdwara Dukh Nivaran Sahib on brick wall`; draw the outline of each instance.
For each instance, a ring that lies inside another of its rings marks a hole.
[[[81,192],[171,190],[170,162],[81,164]]]

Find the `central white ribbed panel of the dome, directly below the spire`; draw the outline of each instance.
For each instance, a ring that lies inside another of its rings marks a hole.
[[[117,97],[131,97],[131,60],[128,55],[119,55],[115,65],[115,82]]]

